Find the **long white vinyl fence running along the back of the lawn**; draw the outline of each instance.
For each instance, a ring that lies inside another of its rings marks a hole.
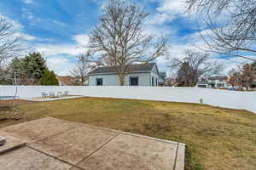
[[[256,92],[236,92],[207,88],[119,87],[119,86],[19,86],[21,99],[40,97],[42,92],[69,91],[72,95],[90,97],[149,99],[203,103],[256,113]],[[0,86],[0,96],[15,95],[15,86]]]

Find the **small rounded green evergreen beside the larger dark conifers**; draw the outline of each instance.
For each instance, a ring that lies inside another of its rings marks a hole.
[[[43,86],[58,86],[59,82],[56,79],[54,71],[45,71],[43,77],[40,79],[40,84]]]

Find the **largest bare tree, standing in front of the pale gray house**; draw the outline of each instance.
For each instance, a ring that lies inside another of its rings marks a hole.
[[[102,12],[100,24],[90,32],[93,55],[88,60],[96,65],[113,66],[123,86],[131,65],[148,63],[166,54],[167,39],[143,32],[148,13],[135,4],[109,0]]]

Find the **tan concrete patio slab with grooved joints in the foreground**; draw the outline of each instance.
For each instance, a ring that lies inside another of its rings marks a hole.
[[[4,127],[0,136],[4,170],[184,169],[185,144],[50,117]]]

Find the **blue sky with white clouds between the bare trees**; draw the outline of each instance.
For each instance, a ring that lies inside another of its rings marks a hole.
[[[135,0],[134,0],[135,1]],[[84,53],[90,29],[97,25],[105,0],[1,0],[0,11],[15,23],[26,38],[30,51],[44,54],[51,70],[68,75],[76,64],[75,56]],[[137,0],[150,13],[144,31],[171,39],[171,54],[182,57],[185,48],[194,48],[190,42],[201,43],[194,16],[184,14],[181,0]],[[242,59],[219,59],[225,72]],[[168,71],[164,58],[158,59],[161,71]]]

